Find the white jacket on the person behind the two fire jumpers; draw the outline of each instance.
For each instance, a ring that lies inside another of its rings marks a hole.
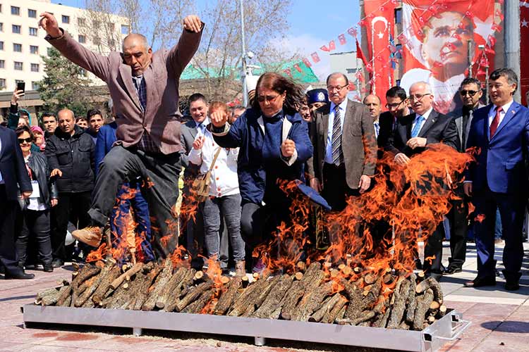
[[[202,149],[194,149],[188,153],[190,163],[200,165],[200,173],[204,175],[209,170],[219,144],[213,139],[213,135],[208,130],[203,134],[205,137]],[[202,136],[202,132],[197,132],[197,137]],[[195,138],[195,139],[196,139]],[[211,183],[209,184],[209,195],[215,197],[231,196],[239,193],[239,181],[237,175],[238,148],[222,148],[217,161],[211,172]]]

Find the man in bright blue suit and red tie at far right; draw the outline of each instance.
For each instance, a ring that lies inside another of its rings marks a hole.
[[[489,77],[492,104],[475,111],[467,147],[480,151],[476,163],[466,172],[465,194],[473,196],[478,249],[478,276],[466,287],[494,286],[494,222],[496,208],[501,215],[505,241],[503,274],[505,289],[520,288],[523,259],[523,215],[527,203],[529,154],[529,110],[513,101],[518,76],[510,68],[494,70]]]

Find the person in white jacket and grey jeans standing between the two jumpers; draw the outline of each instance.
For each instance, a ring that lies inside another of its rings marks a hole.
[[[209,114],[214,111],[228,113],[228,107],[221,101],[209,104]],[[205,123],[207,125],[207,123]],[[189,152],[189,162],[200,165],[200,173],[205,174],[211,167],[215,154],[217,161],[211,172],[209,199],[201,203],[204,216],[205,244],[209,258],[219,258],[219,230],[221,216],[224,217],[230,244],[233,249],[236,275],[245,275],[245,243],[241,237],[241,194],[237,176],[239,149],[221,148],[211,132],[197,133],[193,149]]]

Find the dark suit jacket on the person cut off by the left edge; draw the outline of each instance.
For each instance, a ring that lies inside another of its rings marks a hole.
[[[0,142],[0,172],[6,184],[6,196],[8,200],[16,201],[18,191],[32,191],[30,176],[15,132],[0,126]]]

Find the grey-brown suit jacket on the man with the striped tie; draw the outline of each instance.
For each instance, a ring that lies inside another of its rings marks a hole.
[[[310,131],[314,154],[312,160],[308,161],[308,173],[310,177],[317,177],[320,182],[323,181],[330,108],[331,104],[328,103],[315,111]],[[375,175],[377,162],[377,141],[373,119],[367,107],[361,103],[351,100],[347,102],[341,149],[346,165],[347,185],[351,189],[358,189],[360,176]]]

